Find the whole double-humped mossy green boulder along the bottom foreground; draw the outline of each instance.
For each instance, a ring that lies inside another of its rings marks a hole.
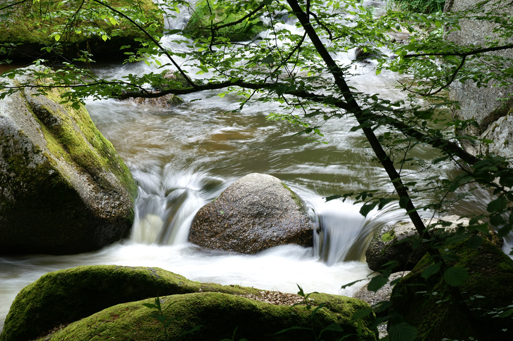
[[[356,298],[311,294],[311,309],[304,305],[291,308],[260,302],[266,294],[269,292],[255,288],[193,282],[159,268],[77,267],[47,273],[20,291],[0,340],[26,341],[42,335],[45,340],[171,340],[200,325],[199,331],[185,335],[185,339],[219,341],[237,329],[237,339],[306,340],[311,339],[311,331],[271,335],[293,326],[319,333],[332,324],[344,332],[323,335],[338,339],[357,334],[358,322],[351,316],[369,307]],[[172,322],[167,333],[154,316],[159,311],[143,305],[154,303],[156,296],[161,297],[168,318],[180,318]],[[312,310],[321,303],[324,306],[310,319]],[[377,330],[368,327],[372,317],[361,321],[361,337],[348,339],[376,340]],[[46,336],[54,327],[67,324],[49,335],[51,338]]]

